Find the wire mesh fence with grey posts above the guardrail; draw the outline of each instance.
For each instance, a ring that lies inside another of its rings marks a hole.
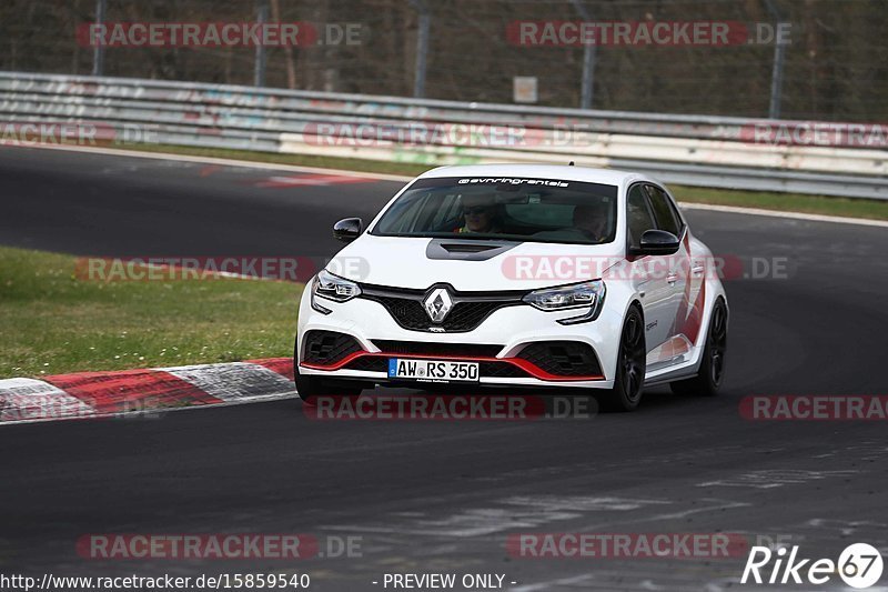
[[[0,69],[884,121],[887,13],[880,0],[8,0],[0,6]],[[169,36],[114,42],[83,34],[97,20],[105,31],[265,20],[295,22],[311,34],[262,47],[176,44]],[[699,24],[708,29],[703,40],[693,34]]]

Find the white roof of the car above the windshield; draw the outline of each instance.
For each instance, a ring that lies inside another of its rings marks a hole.
[[[420,175],[420,178],[423,179],[440,177],[518,177],[524,179],[585,181],[617,187],[629,181],[649,180],[645,175],[635,172],[557,164],[470,164],[438,167],[437,169],[432,169]]]

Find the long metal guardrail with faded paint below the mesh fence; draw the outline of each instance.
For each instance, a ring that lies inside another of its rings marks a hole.
[[[426,164],[573,160],[668,183],[888,199],[884,149],[754,141],[757,124],[808,122],[22,72],[0,72],[0,121],[89,123],[107,141],[132,141],[133,130],[145,141],[151,130],[161,144]]]

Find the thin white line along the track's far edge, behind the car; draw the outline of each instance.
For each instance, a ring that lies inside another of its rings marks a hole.
[[[40,148],[47,150],[65,150],[70,152],[85,152],[85,153],[99,153],[99,154],[108,154],[108,155],[115,155],[115,157],[132,157],[132,158],[145,158],[145,159],[157,159],[157,160],[172,160],[172,161],[185,161],[185,162],[199,162],[204,164],[220,164],[223,167],[242,167],[249,169],[263,169],[263,170],[272,170],[272,171],[292,171],[292,172],[310,172],[310,173],[321,173],[321,174],[342,174],[345,177],[362,177],[365,179],[379,179],[380,181],[398,181],[398,182],[408,182],[413,178],[412,177],[402,177],[398,174],[382,174],[376,172],[361,172],[361,171],[347,171],[344,169],[322,169],[317,167],[297,167],[294,164],[274,164],[272,162],[255,162],[251,160],[234,160],[234,159],[223,159],[223,158],[215,158],[215,157],[193,157],[186,154],[165,154],[162,152],[140,152],[138,150],[119,150],[113,148],[84,148],[84,147],[71,147],[71,146],[56,146],[56,144],[33,144],[28,146],[27,148]],[[881,220],[867,220],[865,218],[844,218],[840,215],[821,215],[815,213],[801,213],[801,212],[780,212],[776,210],[763,210],[760,208],[740,208],[736,205],[713,205],[708,203],[690,203],[685,201],[679,201],[679,205],[685,209],[689,210],[709,210],[714,212],[727,212],[727,213],[739,213],[746,215],[766,215],[769,218],[786,218],[791,220],[808,220],[811,222],[837,222],[842,224],[859,224],[865,227],[881,227],[888,228],[888,221]]]

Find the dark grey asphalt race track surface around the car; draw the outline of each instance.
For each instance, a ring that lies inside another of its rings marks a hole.
[[[255,187],[274,174],[296,175],[3,149],[0,242],[101,255],[324,255],[337,248],[335,220],[370,218],[398,187]],[[718,398],[654,389],[636,413],[584,421],[320,422],[290,400],[2,427],[0,572],[284,570],[311,574],[315,590],[382,590],[392,572],[501,573],[508,590],[719,590],[748,588],[738,583],[745,554],[521,559],[505,543],[523,532],[727,532],[791,541],[806,558],[836,560],[852,542],[886,554],[886,423],[748,421],[738,403],[888,393],[888,233],[688,217],[716,253],[788,262],[786,278],[727,282]],[[361,556],[102,562],[74,551],[88,533],[220,532],[360,536]]]

